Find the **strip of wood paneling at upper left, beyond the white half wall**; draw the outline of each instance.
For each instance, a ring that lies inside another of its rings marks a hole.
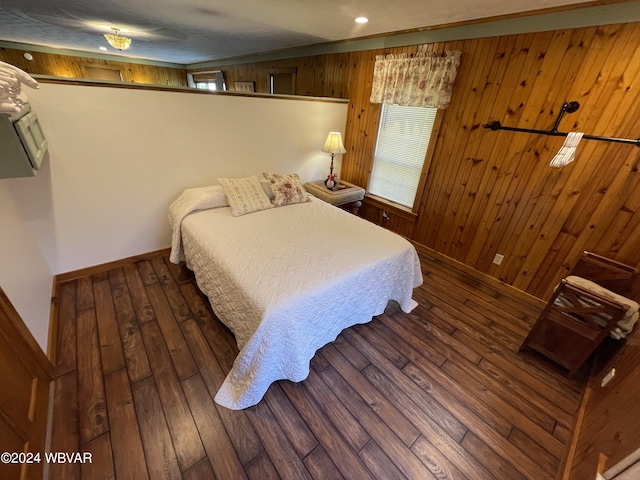
[[[24,58],[25,50],[0,48],[0,60],[10,63],[32,75],[52,75],[64,78],[87,78],[83,67],[117,67],[122,72],[122,81],[171,87],[187,86],[187,71],[182,68],[118,62],[89,57],[72,57],[53,53],[31,52],[33,60]]]

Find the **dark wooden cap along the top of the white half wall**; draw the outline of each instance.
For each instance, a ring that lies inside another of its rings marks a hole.
[[[332,98],[332,97],[311,97],[304,95],[272,95],[270,93],[242,93],[242,92],[230,92],[230,91],[211,91],[201,90],[191,87],[176,87],[167,85],[151,85],[146,83],[130,83],[130,82],[110,82],[108,80],[86,80],[81,78],[65,78],[65,77],[53,77],[50,75],[33,75],[38,83],[57,83],[60,85],[78,85],[85,87],[112,87],[112,88],[127,88],[132,90],[157,90],[163,92],[180,92],[180,93],[193,93],[196,95],[225,95],[234,97],[255,97],[255,98],[269,98],[274,100],[302,100],[307,102],[328,102],[328,103],[349,103],[349,99],[346,98]]]

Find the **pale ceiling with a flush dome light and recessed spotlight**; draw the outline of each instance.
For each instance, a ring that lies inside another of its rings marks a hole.
[[[0,40],[189,65],[584,0],[0,0]],[[362,25],[358,16],[369,18]],[[133,39],[108,46],[112,27]]]

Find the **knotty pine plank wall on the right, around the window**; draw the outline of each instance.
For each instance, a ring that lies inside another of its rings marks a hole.
[[[460,49],[448,110],[423,172],[417,216],[389,208],[385,225],[437,252],[546,299],[583,250],[640,265],[640,148],[583,140],[577,160],[549,162],[563,137],[482,125],[549,129],[565,101],[581,108],[560,131],[640,137],[640,24],[461,40],[221,67],[227,85],[296,69],[296,93],[350,99],[341,175],[366,187],[380,106],[371,104],[375,56]],[[361,214],[381,219],[365,202]],[[505,259],[500,266],[494,255]],[[636,288],[638,297],[640,287]]]

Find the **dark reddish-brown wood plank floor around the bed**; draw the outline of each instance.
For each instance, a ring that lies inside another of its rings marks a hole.
[[[237,353],[164,256],[58,290],[51,479],[554,478],[582,380],[518,346],[540,306],[421,253],[411,314],[344,331],[298,384],[213,397]]]

